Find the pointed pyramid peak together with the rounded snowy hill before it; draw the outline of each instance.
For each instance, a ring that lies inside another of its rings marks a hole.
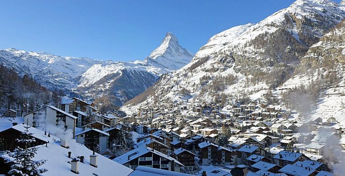
[[[75,91],[92,97],[114,95],[116,103],[121,105],[145,91],[160,75],[182,68],[192,58],[193,54],[179,45],[176,36],[167,33],[145,60],[93,65],[80,75]]]

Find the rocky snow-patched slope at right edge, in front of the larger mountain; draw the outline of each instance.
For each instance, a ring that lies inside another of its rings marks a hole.
[[[301,86],[320,92],[309,118],[335,118],[345,125],[345,20],[309,48],[299,69],[278,93]]]

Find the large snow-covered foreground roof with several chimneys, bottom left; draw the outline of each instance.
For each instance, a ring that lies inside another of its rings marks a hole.
[[[79,175],[82,176],[95,176],[95,174],[101,176],[109,175],[109,173],[116,173],[117,176],[127,176],[133,171],[100,154],[97,156],[97,167],[93,167],[90,165],[89,157],[92,151],[86,148],[85,145],[77,143],[75,140],[68,142],[69,149],[60,146],[60,142],[49,143],[47,145],[48,147],[46,145],[37,146],[38,150],[34,160],[47,160],[41,168],[46,168],[48,172],[41,174],[42,176],[76,176],[75,173],[71,172],[70,161],[78,156],[85,157],[84,163],[79,162]],[[68,152],[72,152],[71,158],[67,157]]]

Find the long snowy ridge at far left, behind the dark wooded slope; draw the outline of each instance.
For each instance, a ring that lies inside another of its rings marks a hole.
[[[76,87],[75,78],[101,61],[11,48],[0,50],[0,63],[20,75],[31,75],[45,87],[63,90]]]

